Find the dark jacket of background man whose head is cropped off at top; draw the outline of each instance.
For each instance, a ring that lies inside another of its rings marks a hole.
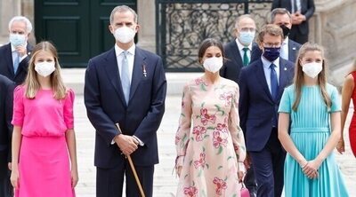
[[[306,20],[298,25],[299,32],[302,35],[309,33],[308,20],[315,12],[314,0],[300,0],[301,1],[301,13],[305,16]],[[286,8],[287,11],[292,12],[292,4],[290,0],[274,0],[271,10],[275,8]]]

